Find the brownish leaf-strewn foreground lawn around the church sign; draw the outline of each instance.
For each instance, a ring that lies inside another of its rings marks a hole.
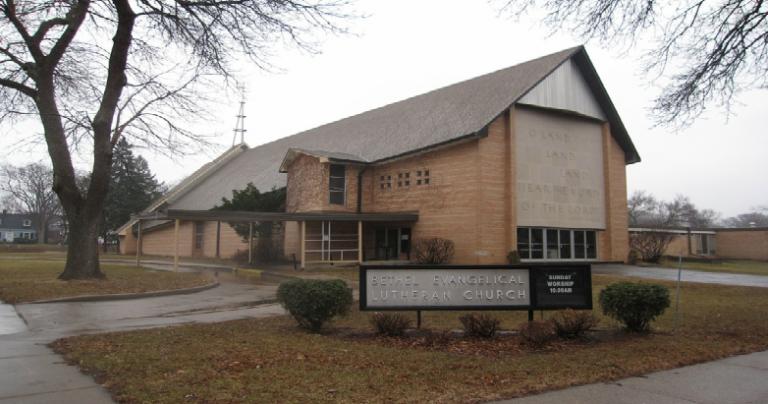
[[[595,298],[619,280],[594,276]],[[592,338],[538,350],[517,336],[375,337],[369,313],[357,310],[321,334],[281,316],[80,336],[54,347],[118,401],[158,403],[482,402],[768,349],[768,310],[756,309],[768,307],[768,289],[685,283],[680,302],[677,332],[672,309],[648,335],[626,334],[601,316]],[[461,314],[425,312],[423,326],[460,328]],[[526,317],[493,314],[505,329]]]

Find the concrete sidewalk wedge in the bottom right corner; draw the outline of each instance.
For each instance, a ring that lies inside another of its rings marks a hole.
[[[768,403],[768,351],[499,403],[765,404]]]

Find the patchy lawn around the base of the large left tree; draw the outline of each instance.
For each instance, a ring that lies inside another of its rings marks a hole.
[[[61,258],[37,259],[25,255],[15,257],[0,254],[0,300],[24,303],[80,295],[139,293],[201,286],[211,282],[197,273],[150,271],[126,265],[104,265],[106,279],[62,281],[57,279],[64,270]]]

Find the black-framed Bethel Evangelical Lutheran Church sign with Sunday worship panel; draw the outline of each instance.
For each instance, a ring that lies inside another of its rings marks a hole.
[[[589,265],[361,266],[361,310],[591,309]]]

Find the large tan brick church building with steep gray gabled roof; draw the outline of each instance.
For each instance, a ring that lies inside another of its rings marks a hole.
[[[407,260],[416,240],[432,237],[455,243],[455,263],[504,263],[510,251],[531,261],[624,261],[625,165],[638,161],[577,47],[236,146],[143,213],[155,220],[142,225],[140,248],[227,256],[247,244],[226,222],[269,219],[284,223],[284,253],[302,263]],[[249,182],[286,186],[286,212],[208,212]],[[137,230],[120,229],[123,252],[136,251]]]

